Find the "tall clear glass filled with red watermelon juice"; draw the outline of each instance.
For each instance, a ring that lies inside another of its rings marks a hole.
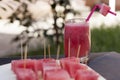
[[[91,46],[89,23],[84,18],[69,19],[65,22],[65,57],[85,57]]]

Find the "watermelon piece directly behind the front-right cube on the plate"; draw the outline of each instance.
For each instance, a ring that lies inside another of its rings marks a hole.
[[[68,71],[71,78],[75,77],[77,70],[86,70],[86,69],[88,69],[88,67],[85,64],[74,63],[74,62],[66,63],[66,70]]]

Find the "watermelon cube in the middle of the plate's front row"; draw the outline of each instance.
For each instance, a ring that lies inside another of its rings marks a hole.
[[[70,76],[64,69],[48,70],[45,72],[44,80],[70,80]]]

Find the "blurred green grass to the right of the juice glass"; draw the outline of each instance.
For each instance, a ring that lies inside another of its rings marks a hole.
[[[120,25],[91,30],[91,52],[120,52]]]

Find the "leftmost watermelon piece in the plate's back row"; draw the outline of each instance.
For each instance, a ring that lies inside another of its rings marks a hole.
[[[35,62],[34,59],[26,59],[26,60],[13,60],[11,62],[12,64],[12,70],[15,72],[16,68],[27,68],[35,70]]]

